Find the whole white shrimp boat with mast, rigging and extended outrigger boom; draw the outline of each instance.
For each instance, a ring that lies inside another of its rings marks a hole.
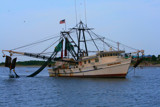
[[[132,54],[144,53],[143,50],[126,53],[119,48],[120,43],[117,42],[117,47],[110,45],[104,37],[94,33],[93,28],[87,27],[82,21],[68,31],[61,31],[58,41],[49,56],[44,55],[44,51],[28,53],[3,50],[3,53],[9,52],[10,57],[13,54],[21,54],[46,60],[29,77],[37,75],[47,65],[50,65],[48,69],[50,77],[126,77]],[[135,64],[135,67],[139,63],[140,61]]]

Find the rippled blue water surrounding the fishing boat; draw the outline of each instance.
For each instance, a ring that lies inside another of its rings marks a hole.
[[[160,67],[137,68],[126,79],[52,78],[47,69],[25,77],[36,67],[17,67],[8,78],[0,67],[0,107],[160,107]]]

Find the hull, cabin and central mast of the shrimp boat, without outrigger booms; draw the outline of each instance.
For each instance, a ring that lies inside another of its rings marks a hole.
[[[75,30],[77,41],[73,40],[70,33]],[[67,62],[56,62],[52,69],[48,69],[49,76],[51,77],[125,77],[128,73],[128,69],[131,63],[131,57],[123,57],[122,54],[125,51],[113,50],[113,48],[107,44],[103,38],[91,31],[81,21],[79,25],[72,28],[69,32],[61,32],[62,37],[65,39],[65,56],[67,51],[73,56],[73,61],[76,63],[69,64]],[[92,46],[87,45],[86,33],[93,42]],[[93,38],[93,36],[96,38]],[[95,40],[98,39],[110,48],[110,51],[100,50]],[[74,45],[72,45],[72,43]],[[81,47],[81,44],[84,46]],[[89,50],[96,47],[95,54],[89,55]],[[63,47],[63,46],[62,46]],[[77,52],[75,51],[77,48]],[[72,60],[69,58],[61,58],[64,60]]]

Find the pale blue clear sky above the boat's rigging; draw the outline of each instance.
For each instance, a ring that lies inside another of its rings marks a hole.
[[[86,23],[84,0],[76,3],[78,21]],[[160,54],[160,0],[86,0],[86,16],[97,34],[145,54]],[[75,0],[1,0],[0,50],[58,34],[62,19],[67,28],[76,25]]]

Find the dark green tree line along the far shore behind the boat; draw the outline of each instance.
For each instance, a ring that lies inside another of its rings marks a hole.
[[[45,61],[37,61],[37,60],[18,61],[16,63],[16,66],[17,67],[39,67],[44,62]],[[136,63],[136,59],[135,61],[132,61],[131,66],[133,66],[135,63]],[[3,67],[4,65],[5,65],[4,62],[0,63],[0,67]],[[143,61],[138,66],[139,67],[160,67],[160,55],[158,55],[158,57],[156,57],[155,55],[152,55],[151,57],[144,57]]]

